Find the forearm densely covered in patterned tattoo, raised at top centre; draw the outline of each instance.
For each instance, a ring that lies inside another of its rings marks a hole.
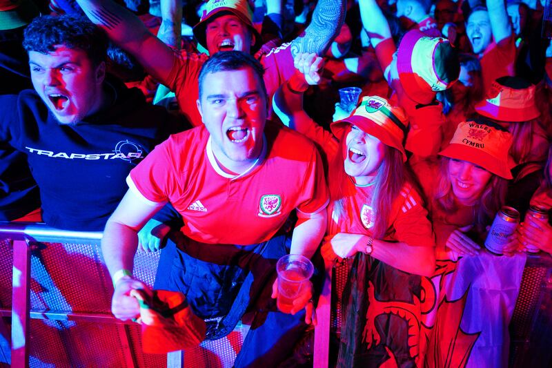
[[[345,20],[346,0],[319,0],[313,19],[302,35],[291,43],[293,57],[299,52],[324,55]]]

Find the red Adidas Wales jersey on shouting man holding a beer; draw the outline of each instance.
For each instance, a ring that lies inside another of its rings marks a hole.
[[[264,153],[246,173],[219,168],[204,126],[172,135],[127,179],[152,202],[170,202],[182,232],[210,244],[256,244],[272,238],[293,209],[301,217],[324,211],[328,192],[314,144],[267,122]]]

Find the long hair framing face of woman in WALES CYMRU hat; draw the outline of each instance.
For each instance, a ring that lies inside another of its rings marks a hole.
[[[445,213],[453,213],[458,209],[449,177],[450,160],[449,157],[441,157],[437,186],[433,195],[435,204]],[[477,202],[475,202],[474,222],[477,232],[482,233],[485,226],[491,223],[497,211],[504,205],[506,188],[506,179],[495,174],[491,175],[491,179],[483,188]]]

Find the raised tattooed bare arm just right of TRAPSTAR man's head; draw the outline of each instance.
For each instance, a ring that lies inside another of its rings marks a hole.
[[[103,28],[118,46],[134,56],[155,79],[166,81],[175,54],[152,35],[144,23],[112,0],[77,0],[92,23]]]

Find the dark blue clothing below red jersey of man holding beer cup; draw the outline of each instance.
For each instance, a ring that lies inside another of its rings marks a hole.
[[[155,289],[184,293],[197,316],[208,321],[208,340],[228,335],[251,312],[253,322],[235,367],[275,367],[306,329],[304,311],[281,313],[270,298],[276,262],[289,246],[285,235],[235,246],[199,243],[177,234],[161,252]]]

